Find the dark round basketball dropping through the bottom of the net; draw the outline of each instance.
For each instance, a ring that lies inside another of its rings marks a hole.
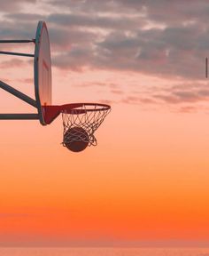
[[[64,133],[64,145],[73,152],[81,152],[89,144],[89,135],[81,127],[69,128]]]

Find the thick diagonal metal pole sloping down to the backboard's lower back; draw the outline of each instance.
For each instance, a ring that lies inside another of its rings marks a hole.
[[[26,94],[19,92],[18,90],[14,89],[9,84],[5,84],[4,82],[0,81],[0,88],[4,89],[6,92],[12,93],[14,96],[18,97],[20,100],[24,100],[31,106],[37,108],[37,103],[34,99],[30,98]]]

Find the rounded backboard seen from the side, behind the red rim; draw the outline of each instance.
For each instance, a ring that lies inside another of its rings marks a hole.
[[[43,106],[51,105],[50,39],[46,23],[39,21],[35,36],[35,100],[41,124],[45,125]]]

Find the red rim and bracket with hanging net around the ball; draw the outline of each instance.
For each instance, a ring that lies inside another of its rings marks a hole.
[[[110,111],[109,105],[100,103],[72,103],[43,107],[44,120],[47,124],[50,124],[59,114],[62,115],[64,128],[62,144],[66,148],[73,144],[77,147],[79,143],[82,143],[83,148],[97,146],[94,132]]]

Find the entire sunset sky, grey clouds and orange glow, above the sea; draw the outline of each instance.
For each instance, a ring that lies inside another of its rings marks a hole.
[[[62,147],[61,116],[0,121],[0,246],[209,245],[208,14],[207,0],[0,0],[0,39],[46,21],[53,104],[112,106],[81,153]],[[0,56],[0,80],[35,98],[33,68]]]

